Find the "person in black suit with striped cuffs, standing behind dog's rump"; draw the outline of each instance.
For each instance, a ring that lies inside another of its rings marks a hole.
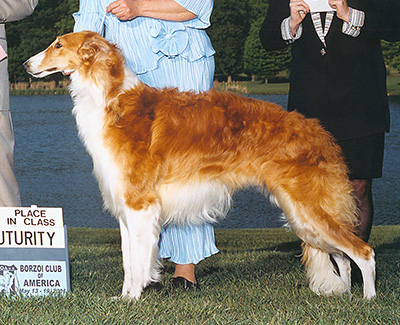
[[[367,241],[390,124],[380,41],[400,40],[400,1],[329,5],[335,11],[319,13],[303,0],[271,0],[260,39],[267,51],[292,44],[288,109],[318,118],[338,140],[358,198],[358,236]]]

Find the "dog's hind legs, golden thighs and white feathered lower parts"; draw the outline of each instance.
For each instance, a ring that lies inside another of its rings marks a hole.
[[[304,195],[304,194],[303,194]],[[348,262],[334,255],[339,267],[339,273],[332,264],[329,254],[345,254],[360,268],[364,280],[364,298],[371,299],[375,292],[375,261],[373,249],[353,233],[352,224],[342,221],[341,217],[326,212],[317,200],[307,201],[308,204],[293,200],[281,191],[276,195],[278,205],[282,208],[294,232],[306,243],[303,262],[306,266],[310,288],[317,294],[340,294],[350,290]],[[345,204],[343,202],[346,202]],[[304,202],[304,201],[303,201]],[[330,200],[327,208],[334,211],[343,210],[353,213],[352,208],[346,210],[341,205],[352,205],[352,197],[342,195],[341,200]]]

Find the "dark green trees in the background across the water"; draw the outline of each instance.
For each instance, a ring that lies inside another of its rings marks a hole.
[[[289,70],[289,47],[267,53],[259,40],[268,4],[269,0],[214,0],[207,33],[216,50],[217,77],[252,76],[267,80]],[[72,14],[78,9],[79,0],[39,0],[32,16],[7,24],[11,82],[28,80],[22,63],[46,48],[56,36],[71,32]],[[397,71],[400,70],[399,47],[400,42],[382,42],[387,66]]]

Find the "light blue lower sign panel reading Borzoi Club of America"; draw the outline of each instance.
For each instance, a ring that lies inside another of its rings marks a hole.
[[[66,263],[0,261],[0,294],[44,296],[66,293]]]

